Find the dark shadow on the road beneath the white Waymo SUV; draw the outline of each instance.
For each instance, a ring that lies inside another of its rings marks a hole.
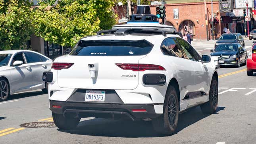
[[[217,111],[225,107],[218,107]],[[217,113],[218,114],[218,113]],[[190,109],[179,115],[177,132],[208,117],[209,114],[203,114],[199,107]],[[162,137],[154,131],[151,121],[131,121],[131,120],[111,120],[111,119],[90,119],[81,121],[74,130],[60,130],[71,134],[90,135],[90,136],[109,136],[109,137]]]

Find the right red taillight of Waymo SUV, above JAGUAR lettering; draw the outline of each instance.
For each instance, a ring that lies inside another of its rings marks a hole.
[[[135,63],[115,63],[118,67],[124,70],[132,70],[132,71],[146,71],[146,70],[158,70],[165,71],[164,67],[160,65],[152,65],[152,64],[135,64]]]

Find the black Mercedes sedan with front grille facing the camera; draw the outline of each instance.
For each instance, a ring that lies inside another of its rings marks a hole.
[[[218,56],[220,65],[235,65],[236,67],[240,67],[241,64],[246,64],[247,51],[238,43],[218,44],[211,52],[211,56]]]

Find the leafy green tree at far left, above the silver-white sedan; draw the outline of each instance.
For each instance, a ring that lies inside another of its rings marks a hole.
[[[29,0],[0,0],[0,50],[23,49],[31,34]]]

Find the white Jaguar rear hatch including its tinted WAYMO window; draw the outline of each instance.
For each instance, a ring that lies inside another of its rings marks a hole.
[[[69,56],[58,60],[58,63],[71,63],[69,68],[58,70],[58,85],[62,88],[135,89],[139,83],[136,64],[152,47],[146,40],[80,40]],[[122,69],[134,64],[135,69]]]

